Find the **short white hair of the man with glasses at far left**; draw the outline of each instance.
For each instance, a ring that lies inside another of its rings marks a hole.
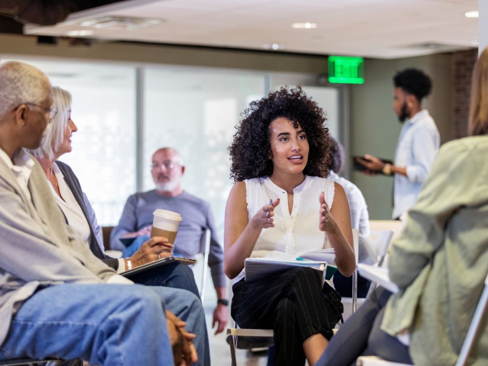
[[[36,67],[19,61],[0,65],[0,119],[22,103],[41,104],[51,83]]]

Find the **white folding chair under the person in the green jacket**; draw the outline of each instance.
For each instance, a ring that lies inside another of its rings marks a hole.
[[[465,366],[467,365],[469,353],[473,345],[477,340],[477,336],[479,335],[480,331],[480,324],[487,311],[488,305],[488,275],[485,278],[485,287],[483,288],[483,292],[481,293],[480,300],[478,301],[478,305],[476,306],[476,310],[474,311],[473,319],[471,320],[471,324],[468,328],[468,333],[466,334],[466,338],[464,339],[463,346],[461,347],[461,352],[459,352],[459,357],[456,362],[456,366]],[[357,366],[409,366],[407,364],[399,364],[395,362],[388,362],[382,360],[375,356],[361,356],[358,358]]]

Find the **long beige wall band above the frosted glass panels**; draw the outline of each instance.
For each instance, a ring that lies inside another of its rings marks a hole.
[[[0,34],[0,55],[26,55],[99,61],[129,61],[325,74],[327,57],[280,52],[212,49],[152,43],[97,41],[89,46],[38,44],[37,37]]]

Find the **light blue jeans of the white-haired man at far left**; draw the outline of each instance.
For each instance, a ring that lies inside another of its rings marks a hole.
[[[209,365],[197,297],[169,287],[107,284],[63,284],[37,291],[14,315],[0,359],[61,357],[92,365],[173,365],[164,309],[197,334],[198,365]]]

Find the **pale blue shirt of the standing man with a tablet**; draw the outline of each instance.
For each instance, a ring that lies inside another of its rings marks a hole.
[[[403,125],[395,152],[395,165],[405,166],[407,177],[395,174],[393,219],[400,217],[417,201],[439,145],[439,130],[427,109],[416,113]]]

